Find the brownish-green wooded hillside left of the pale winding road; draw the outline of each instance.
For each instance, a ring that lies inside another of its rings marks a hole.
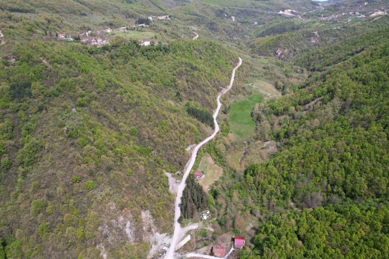
[[[185,147],[207,127],[184,104],[212,110],[236,60],[212,42],[140,47],[121,38],[100,49],[31,41],[3,54],[0,222],[7,258],[65,251],[94,257],[97,245],[123,257],[147,254],[147,243],[134,251],[126,240],[148,241],[147,211],[155,231],[170,226],[163,170],[181,168]]]

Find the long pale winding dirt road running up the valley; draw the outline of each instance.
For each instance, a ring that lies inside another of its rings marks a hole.
[[[219,110],[221,108],[221,102],[220,102],[220,98],[221,96],[224,94],[224,93],[227,93],[228,90],[231,89],[232,87],[232,84],[234,82],[234,79],[235,79],[235,71],[237,70],[237,68],[242,65],[242,59],[239,58],[239,63],[237,66],[235,66],[235,68],[232,70],[232,75],[231,75],[231,80],[230,80],[230,85],[224,89],[218,96],[217,96],[217,108],[215,110],[215,113],[213,115],[214,117],[214,122],[215,122],[215,130],[214,130],[214,133],[212,133],[212,135],[210,135],[209,137],[207,137],[205,140],[203,140],[202,142],[200,142],[198,145],[196,145],[196,147],[193,149],[192,151],[192,156],[191,158],[189,159],[189,163],[188,163],[188,166],[184,172],[184,176],[182,177],[182,182],[180,184],[180,186],[178,187],[178,191],[177,191],[177,198],[175,200],[175,215],[174,215],[174,233],[173,233],[173,237],[170,241],[170,247],[169,249],[167,250],[166,252],[166,255],[165,255],[165,259],[172,259],[174,258],[174,252],[175,252],[175,247],[176,245],[178,244],[179,242],[179,233],[180,233],[180,230],[181,230],[181,225],[180,223],[178,222],[178,218],[180,217],[181,215],[181,208],[180,208],[180,203],[181,203],[181,197],[182,197],[182,192],[184,191],[184,188],[185,188],[185,181],[186,181],[186,178],[188,177],[189,175],[189,172],[191,172],[192,170],[192,167],[193,165],[195,164],[195,160],[196,160],[196,156],[197,156],[197,151],[198,149],[200,149],[200,147],[202,145],[204,145],[205,143],[209,142],[212,138],[214,138],[217,134],[217,132],[219,131],[219,124],[217,124],[217,121],[216,121],[216,117],[217,115],[219,114]]]

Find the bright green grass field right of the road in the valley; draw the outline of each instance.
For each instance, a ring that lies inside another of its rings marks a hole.
[[[255,122],[252,120],[251,111],[256,103],[262,100],[262,94],[252,94],[249,98],[231,105],[231,115],[228,118],[235,138],[242,139],[254,135]]]

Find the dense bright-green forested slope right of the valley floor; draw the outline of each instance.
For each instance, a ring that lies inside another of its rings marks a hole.
[[[312,50],[298,60],[307,69],[326,70],[312,73],[295,93],[254,109],[257,137],[277,140],[279,151],[211,192],[222,226],[233,221],[239,231],[237,209],[259,219],[242,258],[386,258],[386,30]]]

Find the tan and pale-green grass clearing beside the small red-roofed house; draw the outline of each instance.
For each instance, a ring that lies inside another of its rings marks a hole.
[[[205,154],[200,161],[198,170],[205,174],[205,177],[199,181],[205,192],[216,180],[223,174],[223,168],[216,165],[209,154]]]

